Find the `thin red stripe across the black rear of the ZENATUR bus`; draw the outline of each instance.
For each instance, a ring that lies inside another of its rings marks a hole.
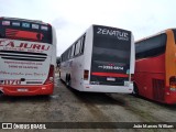
[[[127,74],[114,74],[114,73],[91,73],[95,76],[102,76],[102,77],[129,77]]]

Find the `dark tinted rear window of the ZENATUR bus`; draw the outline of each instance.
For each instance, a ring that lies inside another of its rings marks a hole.
[[[129,34],[128,40],[121,40],[119,36],[106,34],[103,31],[100,33],[100,28],[95,26],[95,37],[94,37],[94,59],[102,62],[121,62],[129,63],[131,54],[131,33],[125,31]],[[106,28],[101,28],[106,29]],[[109,31],[114,31],[114,33],[120,33],[123,31],[117,29],[109,29]]]

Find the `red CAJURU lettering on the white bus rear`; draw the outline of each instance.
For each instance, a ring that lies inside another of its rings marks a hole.
[[[28,48],[28,50],[42,50],[48,51],[50,45],[42,44],[29,44],[29,43],[14,43],[13,41],[0,41],[0,46],[4,47],[18,47],[18,48]]]

